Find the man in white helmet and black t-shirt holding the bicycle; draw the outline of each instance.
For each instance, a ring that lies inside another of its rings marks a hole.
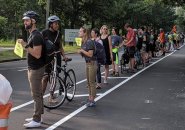
[[[45,39],[49,39],[53,44],[55,45],[55,51],[60,51],[61,53],[57,53],[57,65],[61,67],[61,55],[63,56],[64,60],[67,60],[68,58],[64,54],[64,49],[61,44],[61,32],[59,31],[59,24],[60,19],[59,17],[53,15],[48,18],[48,29],[45,29],[42,31],[42,35]],[[45,73],[50,73],[52,69],[52,65],[48,64],[45,69]],[[60,73],[60,70],[58,69],[58,72]],[[44,76],[42,80],[42,88],[43,93],[46,90],[47,87],[47,81],[48,76]],[[53,97],[54,98],[54,97]]]

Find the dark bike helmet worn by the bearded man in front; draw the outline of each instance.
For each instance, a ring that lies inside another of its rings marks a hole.
[[[23,14],[22,19],[35,19],[37,22],[39,20],[39,15],[35,11],[27,11]]]

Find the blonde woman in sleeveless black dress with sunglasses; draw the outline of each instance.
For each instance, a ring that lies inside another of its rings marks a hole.
[[[101,40],[103,41],[103,46],[105,49],[105,54],[106,54],[106,63],[105,63],[105,78],[104,78],[104,83],[107,82],[107,77],[109,75],[109,65],[112,64],[113,61],[113,56],[112,56],[112,43],[111,43],[111,36],[108,35],[108,27],[107,25],[103,25],[101,27]]]

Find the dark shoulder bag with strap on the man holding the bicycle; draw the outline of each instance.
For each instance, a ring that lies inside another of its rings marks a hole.
[[[44,42],[43,42],[44,43],[43,44],[43,49],[44,49],[43,53],[44,53],[44,62],[45,62],[46,65],[51,63],[52,60],[54,59],[54,55],[55,55],[54,52],[55,52],[55,48],[56,48],[54,43],[56,42],[56,40],[58,38],[58,35],[59,35],[59,31],[57,33],[57,36],[56,36],[54,42],[50,41],[48,38],[43,37],[43,40],[44,40]]]

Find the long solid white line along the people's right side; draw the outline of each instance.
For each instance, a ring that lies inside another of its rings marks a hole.
[[[183,45],[184,46],[184,45]],[[175,52],[175,51],[174,51]],[[174,52],[162,57],[161,59],[159,59],[158,61],[154,62],[153,64],[150,64],[149,66],[143,68],[142,70],[138,71],[137,73],[133,74],[132,76],[130,76],[129,78],[125,79],[124,81],[122,81],[121,83],[117,84],[116,86],[114,86],[113,88],[107,90],[105,93],[103,93],[102,95],[98,96],[95,101],[97,102],[98,100],[100,100],[101,98],[103,98],[104,96],[106,96],[107,94],[111,93],[112,91],[114,91],[115,89],[119,88],[121,85],[123,85],[124,83],[128,82],[129,80],[131,80],[132,78],[136,77],[137,75],[139,75],[140,73],[142,73],[143,71],[145,71],[146,69],[150,68],[151,66],[157,64],[158,62],[160,62],[161,60],[163,60],[164,58],[172,55]],[[70,113],[68,116],[62,118],[61,120],[59,120],[58,122],[56,122],[55,124],[51,125],[50,127],[48,127],[45,130],[54,130],[55,128],[57,128],[58,126],[60,126],[61,124],[63,124],[64,122],[68,121],[69,119],[71,119],[72,117],[74,117],[75,115],[77,115],[78,113],[80,113],[81,111],[83,111],[84,109],[86,109],[87,107],[84,105],[80,108],[78,108],[77,110],[75,110],[74,112]]]

